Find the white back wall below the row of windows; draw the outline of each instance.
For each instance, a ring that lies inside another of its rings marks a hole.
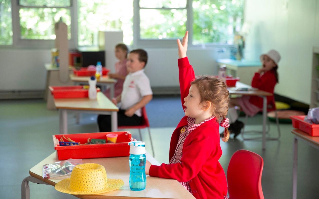
[[[189,49],[190,63],[195,73],[216,74],[216,58],[229,57],[229,51],[217,53],[227,48],[210,47],[209,49]],[[145,48],[149,60],[145,73],[151,80],[152,87],[179,86],[176,48]],[[44,90],[46,83],[45,63],[49,63],[49,49],[0,50],[0,91]]]

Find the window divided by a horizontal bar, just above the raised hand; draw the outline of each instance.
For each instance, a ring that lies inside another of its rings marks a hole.
[[[184,35],[186,0],[140,0],[140,39],[176,39]]]

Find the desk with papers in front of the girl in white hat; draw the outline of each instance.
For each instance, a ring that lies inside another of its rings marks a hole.
[[[236,82],[235,88],[252,88],[251,86]],[[229,89],[230,95],[247,95],[247,96],[260,96],[263,98],[263,150],[266,149],[266,125],[267,125],[267,96],[272,96],[271,93],[268,93],[263,90],[251,90],[251,91],[237,91],[232,90],[232,88]]]

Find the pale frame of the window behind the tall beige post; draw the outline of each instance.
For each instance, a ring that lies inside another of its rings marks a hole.
[[[20,29],[20,9],[21,8],[66,8],[70,9],[71,18],[71,39],[69,39],[69,48],[77,48],[77,0],[70,0],[69,6],[23,6],[19,5],[19,0],[11,0],[12,14],[12,47],[21,48],[53,48],[55,46],[54,39],[21,39]]]

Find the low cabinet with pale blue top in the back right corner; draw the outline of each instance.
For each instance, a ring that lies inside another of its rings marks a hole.
[[[227,75],[233,75],[234,77],[240,77],[240,81],[245,84],[250,84],[251,78],[254,73],[261,68],[262,63],[257,61],[247,60],[232,60],[232,59],[219,59],[217,60],[219,65],[226,65]]]

